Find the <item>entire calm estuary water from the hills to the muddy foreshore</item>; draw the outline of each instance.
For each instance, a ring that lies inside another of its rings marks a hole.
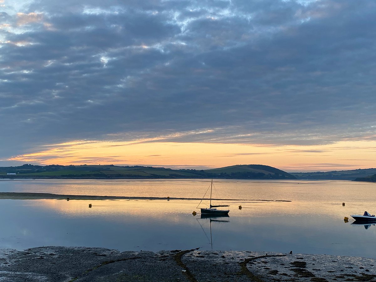
[[[77,195],[201,198],[208,187],[208,180],[0,180],[0,192]],[[199,211],[193,200],[0,200],[0,247],[200,247],[376,258],[375,224],[343,221],[352,213],[376,213],[375,187],[338,180],[215,180],[214,197],[245,200],[224,202],[231,205],[230,217],[212,220],[191,214]]]

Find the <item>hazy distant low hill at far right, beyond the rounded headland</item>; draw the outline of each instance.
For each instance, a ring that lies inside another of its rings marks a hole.
[[[357,170],[341,170],[341,171],[326,171],[326,172],[293,172],[290,173],[297,179],[335,179],[335,180],[355,180],[356,178],[370,177],[376,174],[376,168],[366,168]],[[359,180],[360,181],[360,180]]]

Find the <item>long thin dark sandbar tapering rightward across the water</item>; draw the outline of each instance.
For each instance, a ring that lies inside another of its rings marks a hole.
[[[130,197],[130,196],[95,196],[95,195],[65,195],[53,193],[24,193],[0,192],[0,200],[201,200],[202,198],[182,197]],[[205,198],[206,199],[206,198]],[[290,200],[261,200],[261,199],[212,199],[222,201],[259,201],[259,202],[292,202]]]

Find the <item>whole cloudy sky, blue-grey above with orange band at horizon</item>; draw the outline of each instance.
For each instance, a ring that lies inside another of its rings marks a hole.
[[[0,165],[376,167],[374,0],[0,0]]]

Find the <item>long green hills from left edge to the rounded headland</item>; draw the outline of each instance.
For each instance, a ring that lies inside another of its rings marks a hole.
[[[147,179],[147,178],[225,178],[225,179],[296,179],[268,165],[233,165],[210,170],[173,170],[164,167],[116,165],[30,165],[0,167],[0,178],[65,179]]]

